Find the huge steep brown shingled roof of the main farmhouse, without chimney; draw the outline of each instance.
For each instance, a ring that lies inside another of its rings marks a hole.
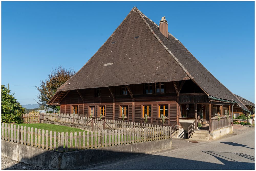
[[[139,36],[139,38],[135,38]],[[244,104],[174,36],[134,7],[92,58],[57,92],[192,79],[209,96]]]

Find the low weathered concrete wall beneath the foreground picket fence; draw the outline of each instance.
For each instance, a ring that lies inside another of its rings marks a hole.
[[[117,145],[97,149],[57,153],[2,140],[2,156],[48,169],[74,169],[132,155],[167,150],[172,139]]]

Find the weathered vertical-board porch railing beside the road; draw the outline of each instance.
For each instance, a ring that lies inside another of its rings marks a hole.
[[[210,126],[211,131],[231,126],[231,116],[228,116],[228,118],[226,116],[220,117],[219,121],[218,118],[211,118]]]

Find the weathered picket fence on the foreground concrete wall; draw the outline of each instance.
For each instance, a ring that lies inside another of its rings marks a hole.
[[[2,123],[2,140],[68,152],[171,138],[170,127],[56,132]]]

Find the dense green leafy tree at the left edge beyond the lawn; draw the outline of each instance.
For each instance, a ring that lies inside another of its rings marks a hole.
[[[10,90],[8,90],[4,85],[2,85],[2,122],[5,123],[23,123],[22,114],[25,111],[17,99],[10,94]]]

